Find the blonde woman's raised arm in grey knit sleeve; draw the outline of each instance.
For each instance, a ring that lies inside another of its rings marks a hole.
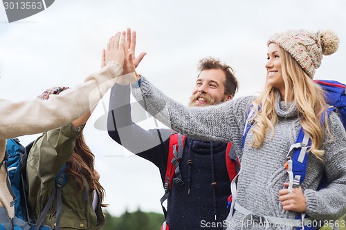
[[[141,77],[132,87],[134,97],[151,115],[179,133],[197,140],[240,144],[246,114],[253,97],[244,97],[203,108],[185,107],[164,95]]]

